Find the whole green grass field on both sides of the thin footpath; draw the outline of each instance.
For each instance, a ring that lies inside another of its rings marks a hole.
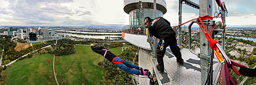
[[[93,52],[90,46],[76,45],[75,50],[77,53],[57,56],[55,59],[56,74],[64,75],[57,77],[57,80],[59,82],[67,80],[66,84],[98,84],[98,81],[103,79],[105,70],[97,66],[97,62],[104,60],[104,57]],[[121,53],[119,47],[111,48],[110,51],[115,55]],[[7,79],[5,83],[47,84],[50,79],[46,74],[52,70],[52,63],[48,65],[47,60],[52,59],[52,57],[53,55],[50,54],[35,55],[32,59],[15,62],[6,69]],[[56,82],[52,82],[52,84],[56,84]]]

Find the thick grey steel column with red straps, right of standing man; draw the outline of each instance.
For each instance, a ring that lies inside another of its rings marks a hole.
[[[200,16],[212,16],[212,0],[200,0]],[[207,25],[208,21],[204,21],[208,30],[212,29],[212,25]],[[203,26],[202,26],[203,27]],[[205,31],[205,30],[204,30]],[[212,35],[210,35],[212,36]],[[212,49],[202,30],[200,30],[200,66],[201,66],[201,84],[205,84],[209,71],[210,54]]]

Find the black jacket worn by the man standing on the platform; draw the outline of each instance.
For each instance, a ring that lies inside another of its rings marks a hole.
[[[176,33],[172,29],[170,22],[163,17],[156,17],[148,24],[149,32],[159,39],[175,38]]]

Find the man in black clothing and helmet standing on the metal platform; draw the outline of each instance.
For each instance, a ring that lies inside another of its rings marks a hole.
[[[180,48],[177,46],[176,33],[172,29],[170,22],[163,17],[156,17],[154,20],[150,17],[145,17],[144,24],[148,28],[150,35],[154,35],[159,39],[158,47],[156,48],[158,60],[156,68],[160,73],[164,72],[163,57],[168,46],[170,46],[172,53],[174,53],[177,62],[182,65],[184,60],[181,58]]]

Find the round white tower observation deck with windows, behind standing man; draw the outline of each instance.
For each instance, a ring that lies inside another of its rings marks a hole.
[[[125,0],[123,10],[129,14],[130,25],[123,26],[122,37],[127,42],[146,50],[151,50],[147,42],[144,18],[154,18],[153,0]],[[166,14],[166,1],[156,0],[156,17]],[[138,29],[139,28],[139,29]]]

